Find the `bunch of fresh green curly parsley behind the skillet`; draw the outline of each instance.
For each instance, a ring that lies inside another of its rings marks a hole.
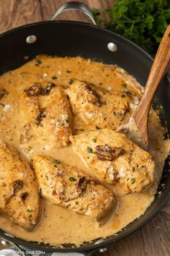
[[[93,9],[99,25],[119,33],[156,54],[158,44],[170,22],[170,0],[117,0],[107,9],[109,22]]]

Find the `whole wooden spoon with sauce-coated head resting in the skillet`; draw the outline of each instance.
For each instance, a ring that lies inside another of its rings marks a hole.
[[[153,96],[156,93],[159,82],[164,77],[166,68],[170,59],[170,25],[158,47],[151,71],[146,82],[146,88],[143,97],[140,100],[133,116],[130,117],[127,124],[122,124],[117,132],[128,135],[130,140],[140,145],[145,150],[149,149],[148,141],[148,113],[151,108]]]

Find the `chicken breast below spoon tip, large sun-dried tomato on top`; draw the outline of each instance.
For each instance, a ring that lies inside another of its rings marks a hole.
[[[73,150],[104,182],[141,192],[155,181],[151,154],[121,133],[100,129],[72,136],[71,142]]]

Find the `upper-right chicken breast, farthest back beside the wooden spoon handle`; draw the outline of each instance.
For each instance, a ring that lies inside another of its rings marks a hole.
[[[117,129],[129,110],[128,95],[87,82],[75,80],[66,92],[75,115],[75,130]]]

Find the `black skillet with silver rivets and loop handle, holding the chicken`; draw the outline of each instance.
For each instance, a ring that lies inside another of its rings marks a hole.
[[[82,56],[107,64],[117,64],[132,74],[144,86],[153,62],[152,57],[130,40],[109,30],[97,27],[90,9],[85,4],[77,2],[63,4],[55,13],[53,20],[61,12],[71,9],[86,13],[94,25],[73,21],[45,21],[17,27],[1,34],[0,74],[22,66],[25,63],[24,56],[29,56],[29,59],[34,58],[37,54]],[[170,132],[170,80],[167,75],[161,82],[156,98],[158,98],[158,102],[164,108],[164,113],[162,111],[160,116],[161,121],[163,124],[166,124],[165,120],[167,120],[166,125]],[[158,107],[158,104],[154,103],[153,107]],[[166,133],[166,137],[169,132]],[[51,247],[48,244],[26,242],[9,236],[0,230],[2,243],[6,244],[7,247],[17,244],[20,248],[24,247],[31,251],[39,250],[45,252],[45,255],[48,255],[48,252],[81,252],[83,254],[90,254],[96,249],[103,252],[107,249],[108,244],[132,234],[150,221],[169,200],[170,172],[167,171],[169,168],[168,161],[166,160],[161,181],[166,184],[164,189],[160,186],[155,200],[143,216],[130,223],[126,229],[123,229],[116,235],[104,239],[95,239],[95,241],[89,243],[84,242],[80,247],[75,247],[73,244],[69,244],[68,241],[68,244],[63,244],[63,249],[60,249]],[[9,241],[9,243],[5,242],[5,240]],[[17,247],[15,248],[17,249]]]

